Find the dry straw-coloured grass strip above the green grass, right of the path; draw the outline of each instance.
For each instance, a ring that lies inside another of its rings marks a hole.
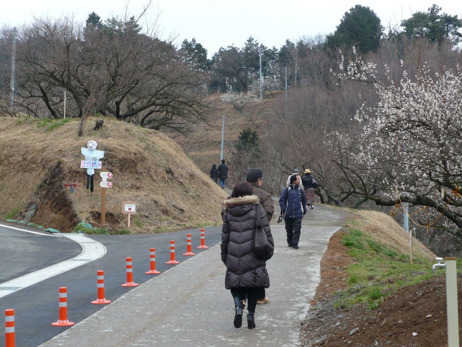
[[[360,229],[364,230],[375,241],[386,245],[402,254],[409,254],[409,234],[405,232],[389,215],[369,210],[356,210],[361,216],[353,223],[359,223]],[[354,225],[349,225],[354,227]],[[412,238],[412,254],[414,257],[428,258],[433,260],[436,255],[430,252],[420,241]]]

